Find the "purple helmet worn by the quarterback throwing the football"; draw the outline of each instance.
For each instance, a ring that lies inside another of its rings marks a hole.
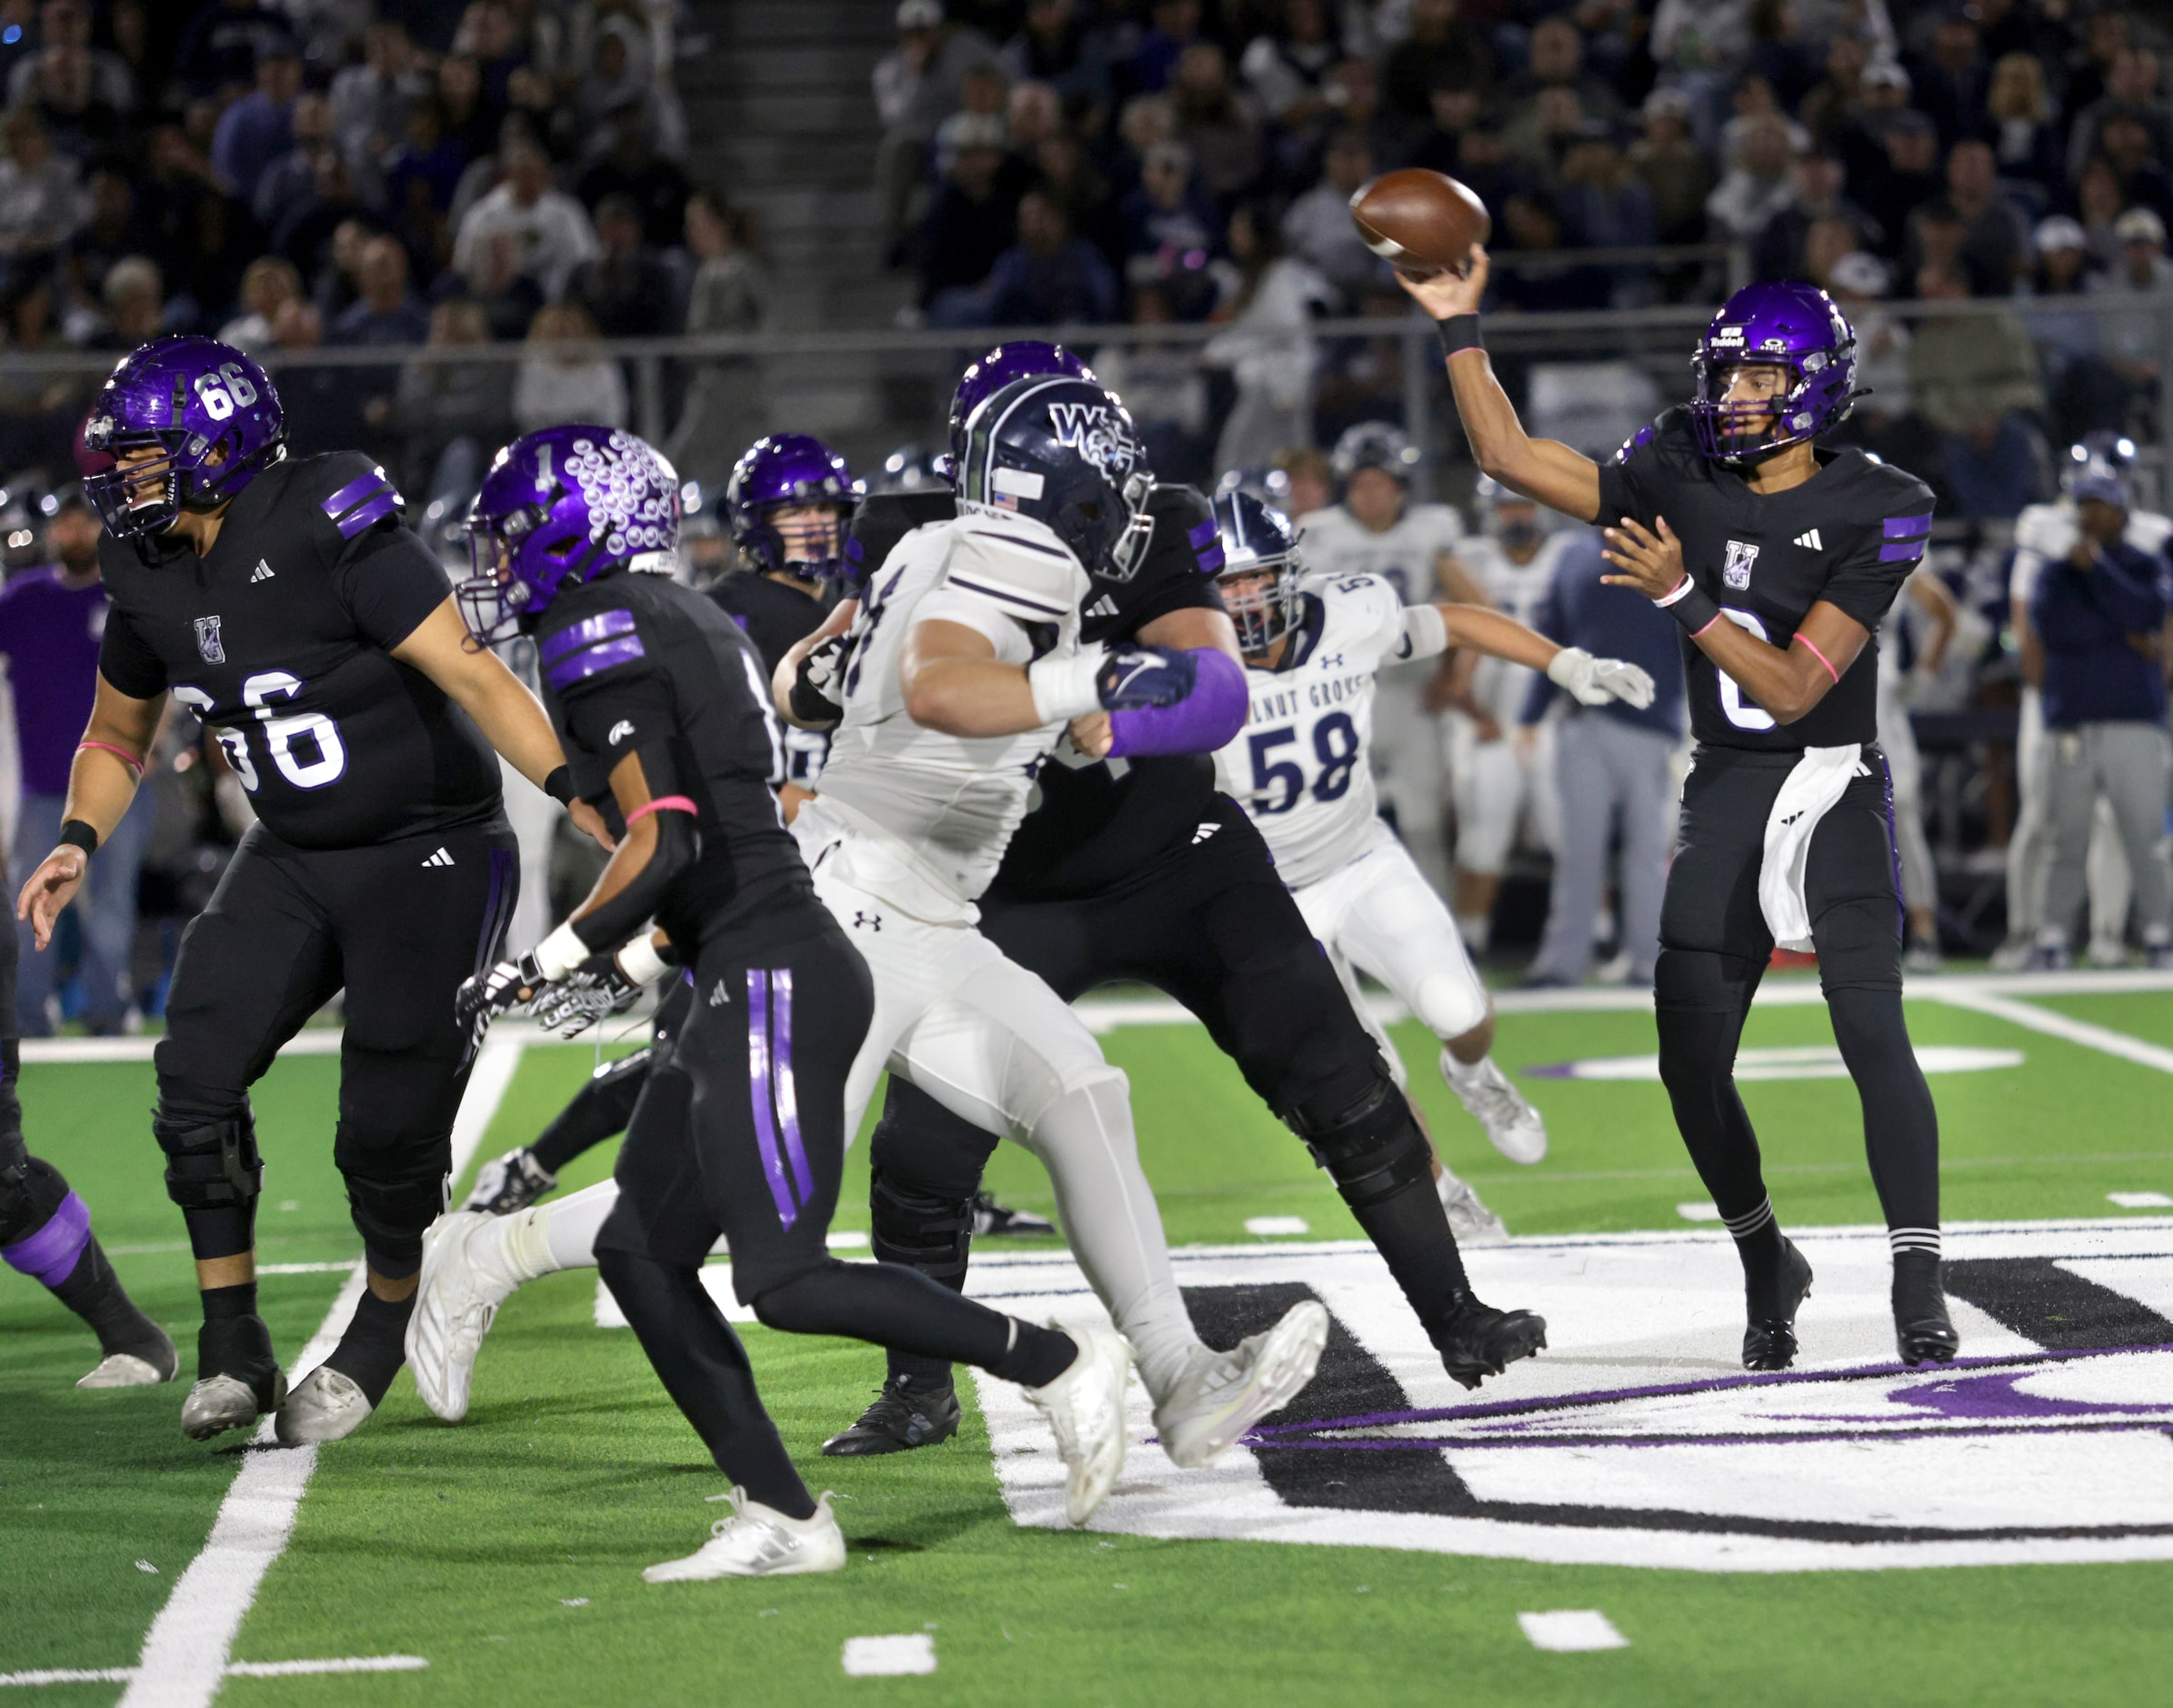
[[[1728,402],[1728,372],[1788,369],[1788,389],[1758,402]],[[1817,285],[1745,285],[1712,317],[1691,356],[1697,389],[1691,426],[1706,456],[1732,463],[1830,432],[1847,419],[1856,391],[1856,330]]]

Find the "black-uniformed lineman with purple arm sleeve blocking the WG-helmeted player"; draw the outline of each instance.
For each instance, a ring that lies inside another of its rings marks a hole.
[[[1082,372],[1060,346],[1006,343],[967,367],[952,400],[952,443],[976,409],[1021,374]],[[919,522],[956,515],[947,493],[871,498],[854,545],[880,561]],[[1352,1013],[1276,876],[1245,811],[1215,789],[1213,750],[1243,724],[1236,635],[1215,593],[1219,543],[1208,502],[1154,487],[1152,537],[1134,574],[1095,574],[1089,643],[1213,650],[1236,693],[1223,721],[1202,719],[1184,752],[1113,752],[1093,761],[1058,748],[1039,776],[1039,806],[1010,839],[980,897],[982,932],[1067,1002],[1110,980],[1167,991],[1208,1028],[1252,1091],[1328,1169],[1441,1349],[1473,1386],[1545,1343],[1545,1323],[1495,1310],[1473,1293],[1456,1241],[1499,1232],[1486,1208],[1443,1176],[1373,1037]],[[852,550],[852,548],[847,548]],[[971,1202],[995,1141],[915,1087],[891,1080],[869,1145],[869,1217],[878,1256],[915,1263],[965,1286]],[[958,1428],[950,1369],[891,1358],[874,1404],[824,1443],[839,1456],[947,1441]]]

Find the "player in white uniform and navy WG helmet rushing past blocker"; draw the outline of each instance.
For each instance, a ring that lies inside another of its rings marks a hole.
[[[1019,382],[989,402],[967,450],[965,513],[915,530],[867,600],[817,630],[828,641],[850,624],[826,654],[843,654],[832,693],[811,708],[795,691],[806,648],[774,678],[795,717],[837,726],[824,791],[800,808],[793,837],[876,984],[845,1130],[889,1067],[1028,1145],[1080,1267],[1139,1354],[1163,1449],[1204,1465],[1310,1380],[1328,1315],[1304,1302],[1236,1352],[1199,1343],[1139,1169],[1123,1073],[1047,984],[976,930],[974,897],[1026,813],[1032,771],[1073,719],[1167,711],[1217,682],[1189,654],[1078,643],[1091,591],[1082,565],[1130,563],[1145,532],[1147,474],[1110,393],[1069,378]],[[415,1358],[432,1410],[465,1406],[498,1299],[585,1260],[582,1228],[602,1202],[602,1189],[574,1193],[476,1228],[461,1258],[448,1254],[445,1284],[426,1286],[417,1310],[415,1343],[426,1328],[439,1343]],[[947,1362],[930,1347],[917,1356]]]

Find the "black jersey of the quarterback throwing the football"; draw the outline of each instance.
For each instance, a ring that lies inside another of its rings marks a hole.
[[[1782,493],[1754,493],[1697,448],[1686,409],[1641,428],[1599,469],[1599,524],[1656,517],[1682,539],[1684,569],[1730,621],[1786,648],[1827,600],[1871,641],[1795,724],[1778,724],[1688,637],[1682,641],[1691,734],[1714,748],[1799,752],[1877,739],[1880,621],[1923,558],[1932,489],[1860,450],[1819,450],[1819,472]]]

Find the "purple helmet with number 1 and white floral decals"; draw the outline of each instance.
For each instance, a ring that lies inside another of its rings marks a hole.
[[[611,569],[678,567],[680,482],[648,441],[604,426],[524,432],[491,461],[467,513],[474,569],[454,585],[482,645],[508,641],[565,587]]]

